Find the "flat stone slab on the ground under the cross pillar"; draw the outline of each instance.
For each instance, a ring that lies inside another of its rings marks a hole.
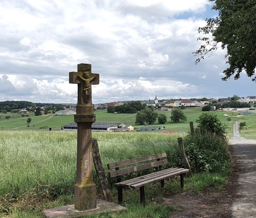
[[[101,199],[97,200],[97,208],[95,209],[80,211],[76,210],[74,206],[75,205],[72,204],[58,208],[47,209],[43,211],[43,214],[47,218],[79,218],[93,214],[127,210],[127,208],[121,205],[112,202],[107,202]]]

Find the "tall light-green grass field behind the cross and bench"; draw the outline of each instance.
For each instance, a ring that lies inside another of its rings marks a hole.
[[[73,191],[76,132],[1,131],[0,195],[43,187],[52,195]],[[126,132],[94,133],[107,163],[170,151],[177,136]]]

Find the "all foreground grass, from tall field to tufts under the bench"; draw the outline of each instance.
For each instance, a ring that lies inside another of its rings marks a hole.
[[[43,218],[42,210],[73,204],[76,171],[76,132],[1,131],[0,132],[0,217]],[[103,166],[134,157],[167,152],[171,166],[176,166],[177,137],[136,132],[93,132],[97,138]],[[96,179],[96,184],[97,178]],[[185,190],[199,191],[205,187],[221,187],[225,175],[196,174],[186,178]],[[114,183],[111,181],[110,183]],[[98,188],[100,190],[100,188]],[[164,194],[181,191],[179,180],[166,181],[145,188],[147,206],[140,206],[139,191],[124,191],[126,212],[94,217],[164,218],[172,207],[158,206]],[[100,194],[100,192],[99,192]],[[117,202],[117,192],[112,190]]]

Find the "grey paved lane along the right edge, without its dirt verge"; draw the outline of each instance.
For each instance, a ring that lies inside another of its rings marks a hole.
[[[234,155],[238,157],[240,172],[238,179],[238,199],[232,206],[234,218],[256,218],[256,141],[240,137],[238,122],[234,122]]]

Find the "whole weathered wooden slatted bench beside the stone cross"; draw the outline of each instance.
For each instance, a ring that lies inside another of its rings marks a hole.
[[[137,166],[127,167],[129,165],[132,165],[132,164],[134,165],[138,163],[142,163],[142,164]],[[147,184],[160,181],[161,187],[163,188],[164,179],[170,178],[176,175],[180,175],[181,188],[183,188],[184,175],[189,170],[184,168],[168,168],[168,169],[161,170],[161,166],[167,163],[168,163],[168,160],[166,159],[166,153],[160,153],[160,154],[150,155],[147,157],[139,157],[139,158],[134,158],[130,160],[124,160],[120,162],[107,164],[107,167],[109,170],[115,169],[115,171],[109,172],[109,177],[111,178],[117,177],[117,183],[115,183],[114,186],[116,186],[118,190],[118,203],[123,202],[123,187],[140,188],[140,202],[143,205],[145,205],[144,186]],[[127,168],[120,169],[120,167],[127,167]],[[158,167],[159,171],[121,182],[122,175],[132,173],[132,172],[138,172],[145,169],[150,169],[153,167]]]

